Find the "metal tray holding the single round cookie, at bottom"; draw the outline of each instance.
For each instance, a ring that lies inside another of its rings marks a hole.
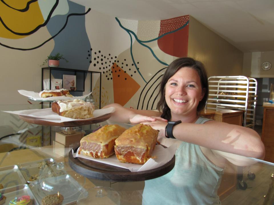
[[[45,178],[43,181],[33,181],[29,184],[33,194],[41,204],[42,199],[50,194],[62,194],[62,205],[75,204],[80,196],[87,197],[88,192],[70,175]]]

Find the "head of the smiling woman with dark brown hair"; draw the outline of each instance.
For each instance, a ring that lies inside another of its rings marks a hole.
[[[164,110],[167,111],[166,116],[162,117],[171,120],[170,106],[177,103],[173,107],[179,110],[174,110],[174,114],[184,108],[188,110],[185,114],[192,112],[193,118],[196,118],[197,114],[203,111],[208,96],[207,74],[204,65],[198,61],[193,62],[191,58],[179,58],[173,61],[168,68],[161,81],[161,97],[157,105],[158,109],[163,109],[163,114]],[[184,103],[181,104],[181,100],[182,102],[184,100]]]

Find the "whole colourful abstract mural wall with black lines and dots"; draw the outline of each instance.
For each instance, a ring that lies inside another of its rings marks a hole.
[[[60,61],[59,67],[102,73],[101,106],[155,109],[165,68],[188,52],[188,15],[138,21],[103,15],[68,0],[0,0],[0,22],[0,52],[7,53],[2,63],[14,68],[15,62],[9,64],[14,56],[25,59],[20,72],[26,82],[20,89],[41,91],[39,65],[59,52],[69,61]],[[29,62],[34,57],[38,60]],[[92,82],[98,108],[99,78]]]

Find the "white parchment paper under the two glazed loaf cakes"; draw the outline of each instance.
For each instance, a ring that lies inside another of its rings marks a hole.
[[[76,153],[73,153],[73,150],[72,150],[72,153],[73,153],[74,158],[81,157],[84,159],[90,159],[92,161],[97,161],[100,163],[129,169],[131,172],[137,172],[137,171],[146,171],[146,170],[150,170],[150,169],[155,169],[157,167],[165,165],[172,159],[172,157],[174,156],[174,154],[176,152],[176,149],[177,149],[176,144],[171,145],[170,147],[167,147],[167,148],[164,148],[162,145],[156,145],[155,149],[153,150],[153,153],[152,153],[152,157],[154,159],[150,158],[143,165],[120,162],[116,158],[116,155],[112,155],[111,157],[103,158],[103,159],[94,159],[93,157],[90,157],[87,155],[78,154],[79,148]]]

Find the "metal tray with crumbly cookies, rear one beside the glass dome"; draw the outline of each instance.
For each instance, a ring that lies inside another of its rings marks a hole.
[[[23,176],[25,177],[27,183],[31,182],[30,177],[32,175],[41,174],[43,169],[39,169],[38,166],[39,166],[39,163],[42,163],[45,161],[50,161],[51,163],[55,164],[55,161],[52,158],[19,164],[20,170]]]

